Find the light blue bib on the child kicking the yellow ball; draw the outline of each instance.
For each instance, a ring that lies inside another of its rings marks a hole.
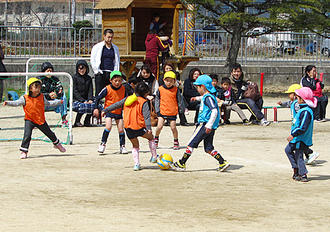
[[[212,100],[214,101],[214,104],[216,106],[216,109],[218,111],[217,118],[216,118],[216,120],[214,121],[214,123],[212,125],[212,129],[215,130],[219,126],[220,110],[219,110],[219,106],[218,106],[218,103],[217,103],[217,99],[215,98],[215,96],[213,94],[207,93],[207,94],[203,95],[201,105],[199,107],[198,122],[199,123],[207,123],[211,118],[211,109],[205,104],[207,97],[212,98]]]

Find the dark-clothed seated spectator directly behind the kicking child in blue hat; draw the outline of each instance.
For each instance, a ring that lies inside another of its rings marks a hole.
[[[183,84],[183,97],[187,102],[187,108],[189,110],[195,110],[195,118],[194,118],[194,123],[197,123],[198,119],[198,112],[199,112],[199,106],[200,102],[199,101],[192,101],[192,98],[200,96],[198,93],[197,89],[194,86],[194,82],[196,81],[197,77],[199,77],[202,74],[201,70],[198,68],[192,68],[189,71],[189,76],[188,79],[184,81]]]

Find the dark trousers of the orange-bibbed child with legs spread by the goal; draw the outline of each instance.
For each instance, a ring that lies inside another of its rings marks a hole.
[[[39,130],[41,130],[41,132],[44,133],[50,139],[50,141],[53,142],[54,145],[56,145],[60,142],[57,139],[55,133],[49,128],[47,122],[45,122],[42,125],[38,125],[34,122],[31,122],[30,120],[25,120],[24,137],[23,137],[22,144],[20,147],[21,151],[28,152],[30,142],[31,142],[32,130],[35,127],[37,127]]]

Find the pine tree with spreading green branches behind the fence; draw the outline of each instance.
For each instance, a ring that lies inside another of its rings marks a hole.
[[[329,31],[329,0],[184,0],[196,4],[197,17],[220,26],[231,35],[225,67],[236,63],[241,38],[255,27],[264,27],[262,34],[274,31]],[[205,10],[209,14],[205,14]]]

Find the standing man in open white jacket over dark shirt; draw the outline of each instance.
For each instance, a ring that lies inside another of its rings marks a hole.
[[[112,43],[113,37],[113,30],[105,29],[103,41],[95,44],[92,48],[91,66],[95,75],[95,96],[110,84],[110,73],[119,71],[119,49]]]

